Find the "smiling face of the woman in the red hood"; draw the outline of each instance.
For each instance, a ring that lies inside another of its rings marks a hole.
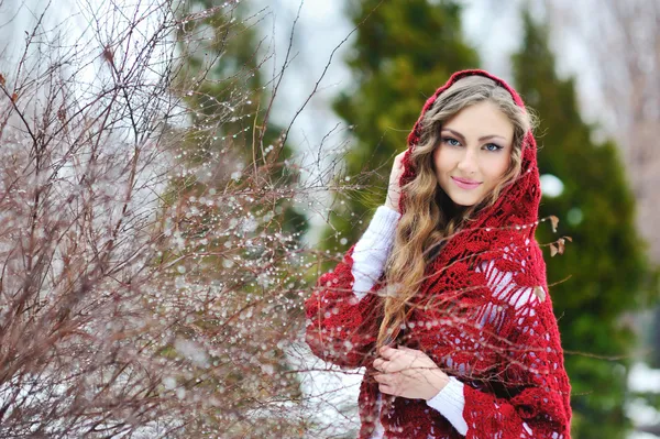
[[[514,124],[495,103],[482,101],[447,120],[433,151],[438,184],[459,206],[473,206],[493,190],[506,173]]]

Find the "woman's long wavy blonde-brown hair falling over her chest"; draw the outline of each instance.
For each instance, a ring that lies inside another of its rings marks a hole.
[[[514,125],[509,166],[502,180],[477,205],[460,208],[438,184],[433,151],[440,145],[444,121],[462,109],[483,101],[495,103]],[[424,114],[419,142],[410,154],[417,171],[413,180],[402,187],[406,209],[399,219],[393,251],[386,262],[387,293],[377,345],[393,342],[407,320],[410,299],[424,282],[426,265],[433,260],[448,239],[459,232],[482,209],[492,206],[502,190],[520,175],[525,134],[534,129],[536,118],[518,107],[508,90],[484,76],[457,80],[436,99]]]

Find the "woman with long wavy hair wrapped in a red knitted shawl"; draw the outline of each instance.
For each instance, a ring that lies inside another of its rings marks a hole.
[[[531,125],[502,79],[454,74],[395,160],[386,205],[307,299],[315,354],[366,367],[360,438],[570,438]]]

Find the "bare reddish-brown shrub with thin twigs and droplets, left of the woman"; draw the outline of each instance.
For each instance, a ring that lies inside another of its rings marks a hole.
[[[235,4],[86,3],[74,32],[50,3],[0,67],[1,437],[304,435],[284,349],[318,255],[290,206],[327,183],[301,187],[288,130],[264,149],[258,90],[186,101],[182,30]]]

